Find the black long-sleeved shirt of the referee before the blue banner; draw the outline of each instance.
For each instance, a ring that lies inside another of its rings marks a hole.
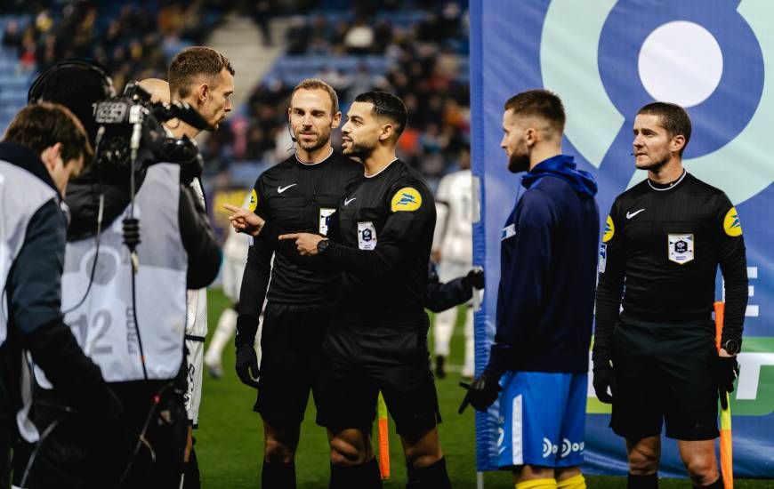
[[[594,357],[624,312],[661,323],[710,318],[715,276],[725,280],[723,341],[741,341],[747,304],[745,240],[736,209],[718,188],[683,173],[650,180],[617,197],[600,250]]]

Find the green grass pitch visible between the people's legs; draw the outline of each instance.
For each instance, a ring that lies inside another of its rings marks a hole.
[[[209,297],[210,333],[214,331],[221,311],[227,300],[219,290],[212,290]],[[208,339],[209,340],[209,339]],[[452,338],[450,363],[462,365],[463,332],[455,329]],[[239,382],[233,369],[234,349],[228,346],[223,355],[224,377],[214,381],[205,375],[204,391],[199,415],[200,428],[197,437],[197,455],[202,474],[202,486],[206,489],[256,488],[261,485],[262,467],[262,423],[261,417],[253,412],[255,391]],[[450,373],[436,383],[440,412],[440,441],[447,458],[447,467],[452,485],[456,489],[474,488],[475,431],[473,410],[463,415],[456,413],[463,391],[457,386],[459,373]],[[326,488],[328,483],[328,446],[325,429],[314,422],[315,412],[309,403],[302,425],[301,444],[296,454],[296,474],[301,489]],[[623,442],[622,442],[623,443]],[[390,432],[391,478],[384,481],[384,487],[397,489],[406,485],[406,468],[403,464],[399,437],[391,423]],[[488,472],[485,486],[513,487],[509,473]],[[625,487],[625,477],[587,477],[589,487]],[[684,479],[662,479],[661,487],[689,488]],[[774,481],[736,481],[738,489],[774,489]]]

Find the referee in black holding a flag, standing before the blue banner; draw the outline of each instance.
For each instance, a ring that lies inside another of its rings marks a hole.
[[[648,179],[617,197],[600,250],[593,385],[602,402],[612,402],[613,431],[626,438],[633,488],[658,485],[663,421],[693,484],[723,486],[717,403],[738,373],[745,241],[729,197],[683,169],[689,139],[681,107],[640,109],[633,155]],[[711,318],[718,265],[726,301],[720,352]]]

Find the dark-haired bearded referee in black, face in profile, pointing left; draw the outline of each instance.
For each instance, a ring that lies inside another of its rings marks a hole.
[[[423,177],[395,156],[406,122],[398,97],[358,95],[342,128],[343,153],[360,159],[365,178],[340,201],[336,242],[280,236],[343,270],[322,346],[317,420],[331,443],[331,488],[381,487],[370,444],[380,390],[406,453],[407,487],[450,487],[424,312],[435,204]]]

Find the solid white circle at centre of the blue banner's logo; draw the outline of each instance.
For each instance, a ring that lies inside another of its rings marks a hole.
[[[682,107],[706,100],[721,81],[721,46],[694,22],[668,22],[650,33],[640,50],[640,79],[651,97]]]

